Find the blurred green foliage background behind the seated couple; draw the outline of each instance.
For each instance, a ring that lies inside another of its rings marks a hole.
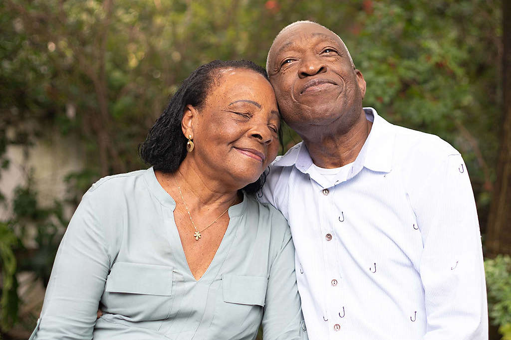
[[[144,167],[137,144],[179,83],[214,59],[264,66],[276,33],[302,19],[343,38],[367,81],[364,105],[463,154],[484,234],[501,119],[500,2],[5,0],[0,165],[9,167],[9,145],[30,148],[55,133],[79,140],[86,165],[68,174],[64,201],[42,208],[28,171],[28,184],[4,202],[13,212],[0,223],[4,331],[35,321],[17,319],[14,274],[47,282],[67,224],[63,207],[75,207],[101,176]],[[298,140],[287,131],[285,148]],[[37,247],[28,249],[21,240],[33,227]]]

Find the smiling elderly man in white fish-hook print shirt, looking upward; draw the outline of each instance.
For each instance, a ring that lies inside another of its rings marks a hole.
[[[303,139],[270,167],[261,200],[286,216],[311,339],[486,339],[480,231],[467,168],[442,139],[363,108],[342,40],[284,28],[267,70]]]

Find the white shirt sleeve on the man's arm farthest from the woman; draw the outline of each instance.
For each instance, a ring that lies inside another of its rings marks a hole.
[[[411,198],[424,244],[424,340],[487,339],[481,237],[467,167],[459,154],[446,156],[424,183]]]

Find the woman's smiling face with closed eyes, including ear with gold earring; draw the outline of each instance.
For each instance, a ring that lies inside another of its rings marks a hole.
[[[220,70],[202,108],[183,133],[192,133],[195,149],[188,154],[204,170],[233,188],[256,181],[275,159],[280,115],[275,93],[260,74],[243,68]],[[186,114],[185,114],[186,116]]]

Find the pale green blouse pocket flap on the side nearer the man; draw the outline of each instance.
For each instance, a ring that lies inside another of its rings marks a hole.
[[[259,276],[222,275],[224,302],[264,307],[268,278]]]

